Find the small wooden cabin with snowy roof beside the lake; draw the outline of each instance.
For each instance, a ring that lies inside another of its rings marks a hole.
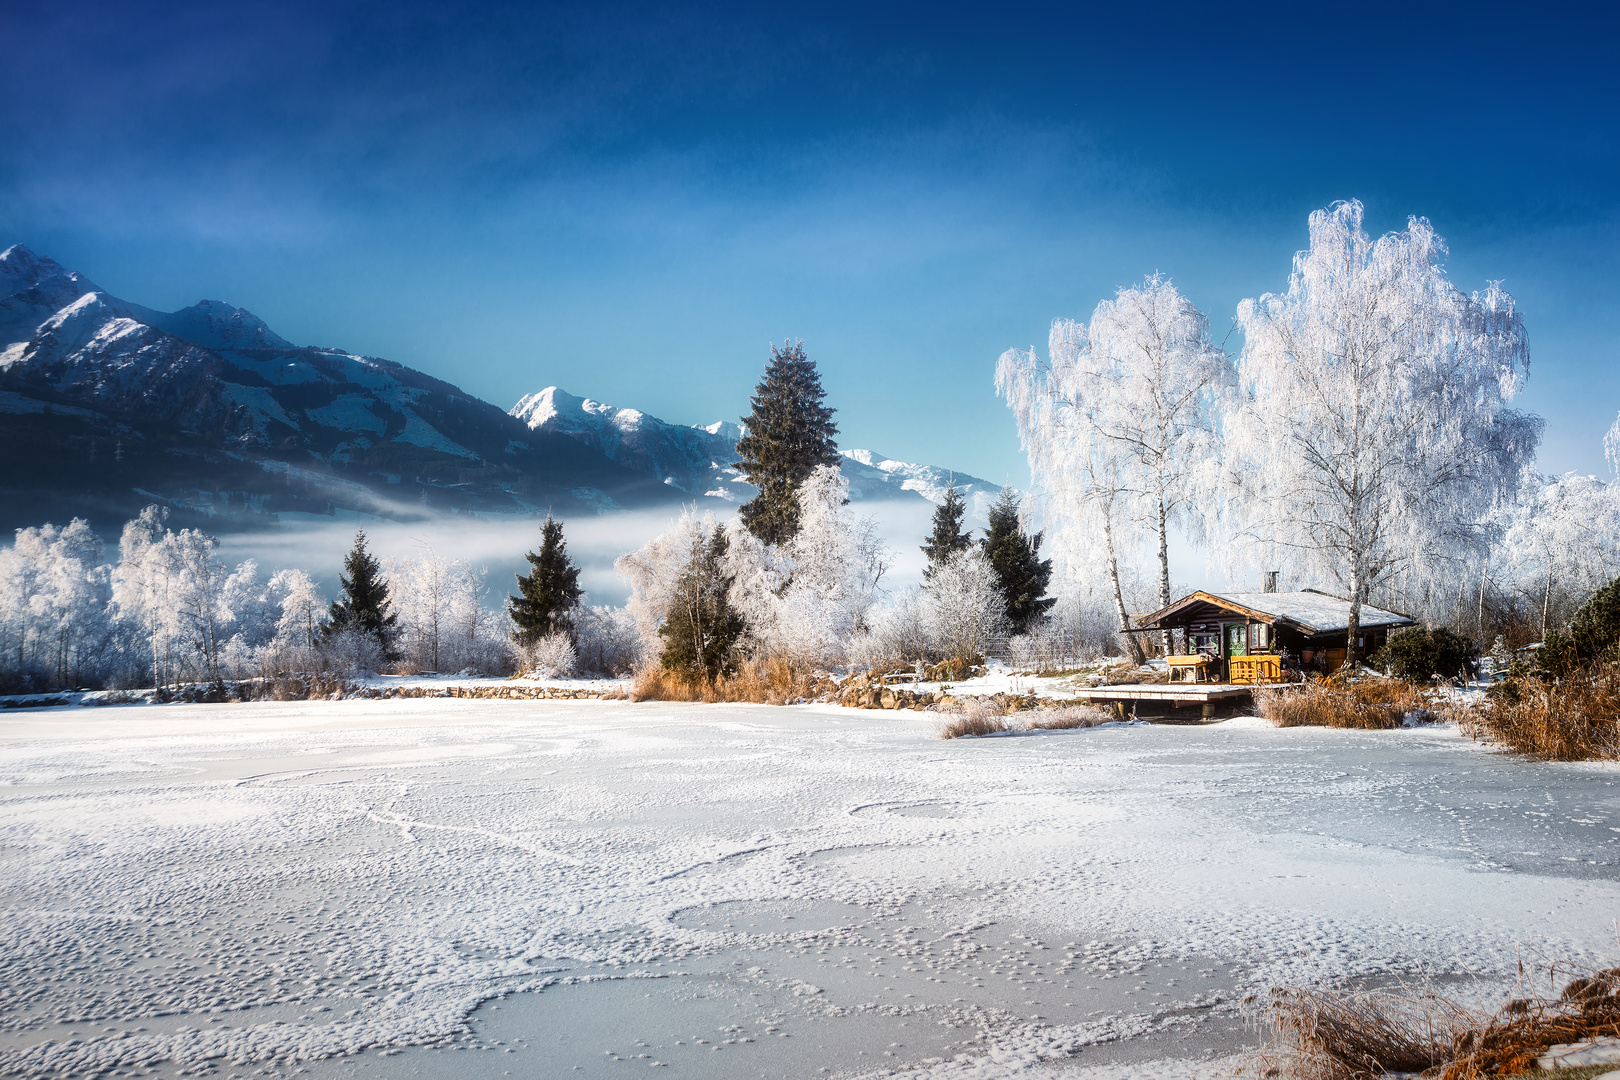
[[[1345,664],[1349,601],[1301,589],[1298,593],[1194,593],[1170,607],[1142,615],[1142,630],[1179,630],[1187,656],[1204,656],[1212,682],[1254,682],[1254,662],[1233,657],[1275,656],[1268,669],[1333,672]],[[1413,625],[1400,612],[1361,606],[1362,657],[1383,648],[1390,630]],[[1181,659],[1181,657],[1173,657]]]

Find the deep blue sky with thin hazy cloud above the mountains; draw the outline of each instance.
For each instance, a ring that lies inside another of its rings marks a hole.
[[[842,445],[1024,483],[1008,347],[1168,274],[1221,334],[1306,215],[1429,217],[1526,313],[1542,466],[1620,408],[1614,8],[0,8],[0,243],[501,403],[734,419],[802,337]]]

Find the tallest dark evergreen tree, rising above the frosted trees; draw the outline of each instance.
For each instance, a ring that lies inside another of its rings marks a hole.
[[[810,471],[839,463],[838,426],[823,397],[804,342],[771,345],[771,363],[750,398],[753,411],[742,418],[748,434],[737,440],[737,468],[760,489],[739,513],[766,544],[786,542],[799,531],[799,486]]]

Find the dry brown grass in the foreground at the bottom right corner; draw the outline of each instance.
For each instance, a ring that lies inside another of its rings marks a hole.
[[[1277,1041],[1251,1057],[1243,1069],[1247,1075],[1515,1077],[1534,1070],[1552,1046],[1620,1036],[1620,968],[1570,980],[1557,999],[1520,997],[1490,1015],[1427,988],[1273,991],[1270,1020]]]

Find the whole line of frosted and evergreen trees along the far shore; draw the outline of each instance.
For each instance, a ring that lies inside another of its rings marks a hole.
[[[1536,473],[1542,421],[1510,405],[1529,371],[1523,316],[1500,283],[1455,288],[1443,259],[1422,219],[1374,240],[1341,202],[1311,215],[1286,290],[1239,304],[1234,355],[1158,275],[1087,322],[1055,321],[1045,356],[996,364],[1032,492],[1003,491],[975,539],[948,487],[909,589],[883,585],[894,555],[850,505],[836,410],[787,342],[742,418],[735,468],[757,495],[726,520],[688,510],[624,554],[624,607],[585,602],[549,518],[494,609],[480,568],[431,552],[382,565],[363,534],[329,601],[298,570],[225,567],[214,538],[151,507],[117,562],[78,520],[21,529],[0,552],[0,682],[638,662],[713,682],[748,662],[912,665],[990,643],[1032,664],[1056,641],[1066,656],[1134,646],[1119,635],[1132,615],[1179,591],[1178,542],[1230,580],[1280,570],[1358,614],[1393,607],[1481,641],[1547,636],[1620,573],[1620,495]]]

